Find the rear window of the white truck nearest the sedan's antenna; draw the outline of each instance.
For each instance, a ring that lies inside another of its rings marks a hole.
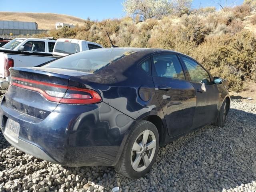
[[[80,52],[80,48],[79,48],[79,44],[77,43],[58,41],[56,42],[54,52],[72,54],[72,53]]]

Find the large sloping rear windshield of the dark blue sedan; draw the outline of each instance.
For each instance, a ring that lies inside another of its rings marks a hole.
[[[111,64],[113,61],[119,60],[137,51],[136,49],[126,48],[93,49],[60,58],[42,67],[93,73]]]

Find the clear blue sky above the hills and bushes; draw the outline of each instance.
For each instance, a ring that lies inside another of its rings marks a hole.
[[[224,4],[225,0],[215,0]],[[48,12],[77,16],[92,20],[120,18],[126,14],[122,11],[123,0],[0,0],[0,11],[10,12]],[[193,8],[216,6],[212,0],[194,0]],[[230,4],[242,4],[243,0],[228,0]],[[1,20],[1,18],[0,18]]]

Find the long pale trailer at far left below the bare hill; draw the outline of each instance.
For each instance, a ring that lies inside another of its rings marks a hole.
[[[0,21],[0,29],[37,30],[36,22]]]

